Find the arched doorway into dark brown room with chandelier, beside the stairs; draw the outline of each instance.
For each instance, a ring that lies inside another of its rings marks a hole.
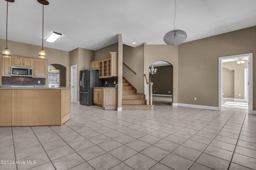
[[[154,105],[172,105],[173,65],[166,61],[152,63],[149,66],[149,81],[154,83],[152,103]]]

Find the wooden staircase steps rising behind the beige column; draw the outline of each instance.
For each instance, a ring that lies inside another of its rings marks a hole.
[[[136,88],[123,77],[122,110],[154,110],[146,105],[144,94],[137,94]]]

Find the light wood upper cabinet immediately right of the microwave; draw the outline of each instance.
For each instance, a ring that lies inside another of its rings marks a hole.
[[[34,59],[33,60],[33,77],[36,78],[46,78],[47,76],[47,61]]]

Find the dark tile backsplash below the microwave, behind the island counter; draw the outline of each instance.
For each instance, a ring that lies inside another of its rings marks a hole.
[[[40,81],[40,83],[38,83]],[[45,85],[45,79],[32,77],[2,77],[2,85]]]

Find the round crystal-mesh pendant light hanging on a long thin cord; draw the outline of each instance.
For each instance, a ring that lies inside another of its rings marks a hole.
[[[175,12],[174,12],[174,30],[168,32],[164,36],[164,42],[168,45],[180,45],[187,39],[187,34],[183,30],[175,30],[175,18],[176,18],[176,0],[175,2]]]

